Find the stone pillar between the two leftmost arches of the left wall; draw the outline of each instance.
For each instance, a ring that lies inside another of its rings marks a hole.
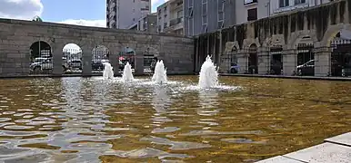
[[[63,62],[63,52],[62,48],[63,44],[55,44],[53,48],[53,75],[61,76],[64,73],[63,65],[67,67],[67,65]]]

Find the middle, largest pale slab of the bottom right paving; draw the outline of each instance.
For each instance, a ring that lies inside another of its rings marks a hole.
[[[309,163],[349,163],[351,162],[351,147],[326,142],[286,154],[284,157]]]

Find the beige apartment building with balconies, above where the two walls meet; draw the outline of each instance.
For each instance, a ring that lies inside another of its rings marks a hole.
[[[157,7],[159,33],[184,34],[183,0],[169,0]]]

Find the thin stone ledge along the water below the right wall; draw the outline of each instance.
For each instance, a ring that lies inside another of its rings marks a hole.
[[[285,76],[285,75],[260,75],[260,74],[237,74],[237,73],[220,73],[220,76],[238,76],[238,77],[256,77],[256,78],[285,78],[301,80],[324,80],[324,81],[348,81],[351,77],[328,77],[328,76]]]

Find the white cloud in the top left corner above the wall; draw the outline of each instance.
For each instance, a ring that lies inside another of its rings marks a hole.
[[[32,19],[43,13],[40,0],[0,0],[0,17],[12,19]]]

